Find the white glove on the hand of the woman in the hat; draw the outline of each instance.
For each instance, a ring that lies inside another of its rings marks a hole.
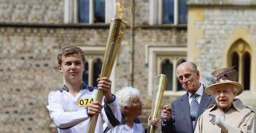
[[[218,115],[209,113],[209,120],[213,125],[216,124],[218,127],[220,127],[223,132],[228,132],[227,124],[222,119],[220,119]]]

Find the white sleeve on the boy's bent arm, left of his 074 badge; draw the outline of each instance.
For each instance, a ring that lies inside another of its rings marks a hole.
[[[50,117],[55,125],[60,129],[75,126],[90,118],[87,115],[87,108],[75,112],[65,112],[58,95],[54,95],[53,92],[50,92],[47,100],[48,102],[46,107],[49,110]]]

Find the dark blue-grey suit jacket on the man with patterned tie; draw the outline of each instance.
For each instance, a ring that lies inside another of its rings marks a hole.
[[[203,91],[193,129],[187,92],[172,102],[172,118],[166,127],[163,127],[162,125],[162,133],[193,133],[198,117],[211,104],[216,104],[214,96],[208,95],[205,93],[205,91]]]

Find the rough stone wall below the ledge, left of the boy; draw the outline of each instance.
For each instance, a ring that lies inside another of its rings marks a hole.
[[[1,131],[48,132],[49,90],[63,83],[56,67],[54,29],[0,28]]]

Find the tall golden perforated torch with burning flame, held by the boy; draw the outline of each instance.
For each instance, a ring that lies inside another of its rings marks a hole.
[[[124,18],[124,19],[121,19],[121,18],[123,15],[126,15],[124,13],[127,13],[128,10],[131,9],[132,4],[131,3],[126,4],[124,1],[117,0],[114,2],[113,5],[116,13],[115,13],[115,18],[111,19],[111,22],[110,22],[108,41],[105,49],[105,55],[104,55],[103,64],[101,68],[100,78],[110,77],[120,44],[123,39],[124,31],[127,25],[125,21],[129,20],[129,18]],[[126,16],[129,16],[129,15],[126,15]],[[103,96],[104,96],[103,91],[98,89],[95,100],[102,103]],[[98,115],[91,116],[89,125],[87,128],[87,133],[94,133],[97,120],[98,120]]]

